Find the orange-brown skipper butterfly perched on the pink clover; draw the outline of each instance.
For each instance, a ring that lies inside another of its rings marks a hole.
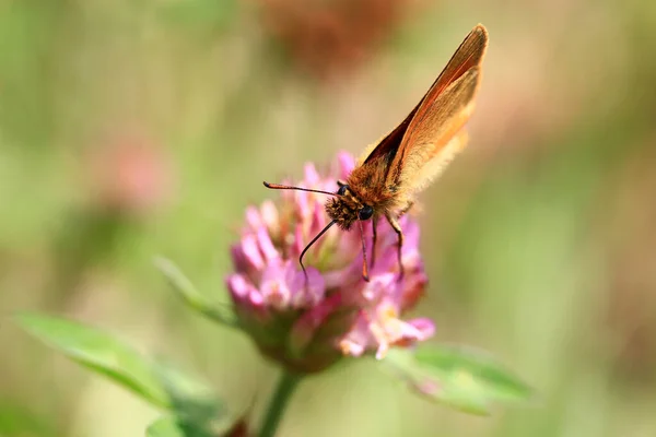
[[[373,218],[373,264],[376,225],[384,216],[398,235],[399,277],[402,277],[403,232],[398,218],[412,208],[415,194],[465,147],[467,132],[462,127],[473,111],[487,47],[488,31],[479,24],[467,35],[410,115],[380,141],[367,147],[345,182],[337,182],[337,192],[265,182],[271,189],[333,196],[326,203],[330,223],[309,241],[298,258],[304,272],[303,256],[317,239],[335,224],[348,231],[358,222],[362,235],[362,275],[368,281],[362,222]]]

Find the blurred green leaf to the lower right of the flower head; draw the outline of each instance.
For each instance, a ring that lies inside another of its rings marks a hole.
[[[481,351],[422,344],[395,349],[383,362],[419,394],[455,409],[489,414],[493,402],[530,399],[531,389]]]

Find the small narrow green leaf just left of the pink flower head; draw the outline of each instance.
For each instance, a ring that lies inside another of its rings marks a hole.
[[[237,327],[237,318],[234,312],[225,306],[221,307],[219,304],[209,302],[173,261],[156,257],[154,264],[191,309],[222,324]]]

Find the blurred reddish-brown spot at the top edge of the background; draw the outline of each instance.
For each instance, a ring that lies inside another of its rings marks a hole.
[[[358,69],[417,0],[258,0],[292,62],[325,80]]]

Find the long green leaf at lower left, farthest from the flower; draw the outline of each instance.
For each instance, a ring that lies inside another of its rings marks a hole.
[[[156,406],[171,405],[152,364],[108,333],[58,317],[22,314],[16,319],[26,331],[73,361]]]

